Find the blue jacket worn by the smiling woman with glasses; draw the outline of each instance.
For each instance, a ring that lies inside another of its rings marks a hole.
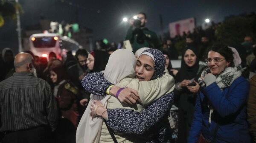
[[[216,82],[202,89],[197,96],[188,143],[197,143],[201,133],[215,143],[250,143],[246,121],[248,92],[249,82],[243,77],[237,78],[223,91]],[[211,123],[207,102],[213,107]]]

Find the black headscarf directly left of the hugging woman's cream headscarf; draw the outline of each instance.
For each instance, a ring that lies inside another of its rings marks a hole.
[[[105,70],[109,56],[108,52],[104,50],[94,50],[94,65],[91,73]]]

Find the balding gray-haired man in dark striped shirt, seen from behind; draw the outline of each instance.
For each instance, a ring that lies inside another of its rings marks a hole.
[[[49,84],[33,76],[29,53],[15,56],[15,73],[0,82],[3,143],[51,143],[58,109]]]

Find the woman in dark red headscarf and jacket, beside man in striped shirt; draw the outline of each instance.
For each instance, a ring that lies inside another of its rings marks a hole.
[[[50,78],[55,85],[52,93],[58,101],[60,109],[56,141],[58,143],[74,143],[79,117],[76,102],[80,95],[79,90],[70,81],[66,70],[62,66],[52,68]]]

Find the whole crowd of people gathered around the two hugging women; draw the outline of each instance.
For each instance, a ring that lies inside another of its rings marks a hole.
[[[5,48],[0,59],[0,142],[256,142],[256,45],[212,44],[215,26],[161,44],[131,21],[125,40],[67,52],[64,61]],[[180,68],[175,42],[186,40]],[[244,50],[245,49],[245,50]]]

